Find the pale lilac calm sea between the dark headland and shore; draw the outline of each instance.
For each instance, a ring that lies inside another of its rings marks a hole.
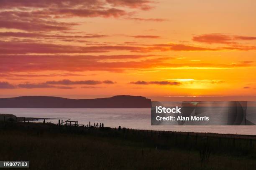
[[[46,122],[57,123],[59,119],[78,120],[87,125],[89,121],[104,123],[105,127],[125,127],[147,130],[173,130],[187,132],[210,132],[227,134],[256,135],[256,126],[151,126],[150,108],[108,108],[108,109],[38,109],[38,108],[0,108],[0,114],[13,114],[18,117],[44,117]],[[38,120],[39,122],[39,120]]]

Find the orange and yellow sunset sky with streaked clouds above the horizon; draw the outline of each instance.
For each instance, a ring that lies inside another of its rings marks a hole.
[[[255,100],[255,7],[254,0],[0,0],[0,97]]]

